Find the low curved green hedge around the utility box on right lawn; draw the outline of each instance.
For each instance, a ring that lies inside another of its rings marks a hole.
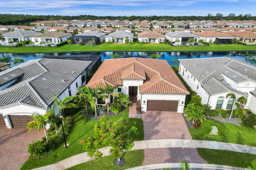
[[[223,135],[227,131],[227,128],[225,125],[223,125],[222,123],[218,123],[214,120],[210,120],[210,119],[207,119],[202,123],[202,125],[201,125],[202,131],[206,134],[209,134],[212,131],[212,126],[217,127],[218,135]]]

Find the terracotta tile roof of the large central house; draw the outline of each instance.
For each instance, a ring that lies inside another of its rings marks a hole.
[[[144,80],[140,93],[189,94],[166,60],[136,57],[104,60],[86,86],[122,86],[124,79]]]

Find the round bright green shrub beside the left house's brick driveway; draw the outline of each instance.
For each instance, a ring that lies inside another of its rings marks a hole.
[[[46,152],[46,143],[44,141],[37,140],[32,141],[28,144],[28,153],[31,154],[32,158],[40,158]]]

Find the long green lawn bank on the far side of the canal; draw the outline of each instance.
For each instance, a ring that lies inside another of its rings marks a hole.
[[[11,47],[1,46],[0,53],[57,53],[75,51],[255,51],[255,45],[244,46],[238,44],[210,46],[170,46],[168,44],[112,44],[104,43],[95,46],[91,45],[64,45],[62,47]]]

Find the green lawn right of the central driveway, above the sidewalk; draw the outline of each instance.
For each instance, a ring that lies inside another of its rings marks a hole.
[[[205,134],[201,128],[188,130],[190,132],[190,135],[192,136],[192,139],[194,140],[236,143],[240,145],[256,147],[256,131],[248,131],[232,123],[224,123],[224,125],[227,127],[227,132],[221,136]],[[208,136],[212,137],[212,139],[209,139]]]

